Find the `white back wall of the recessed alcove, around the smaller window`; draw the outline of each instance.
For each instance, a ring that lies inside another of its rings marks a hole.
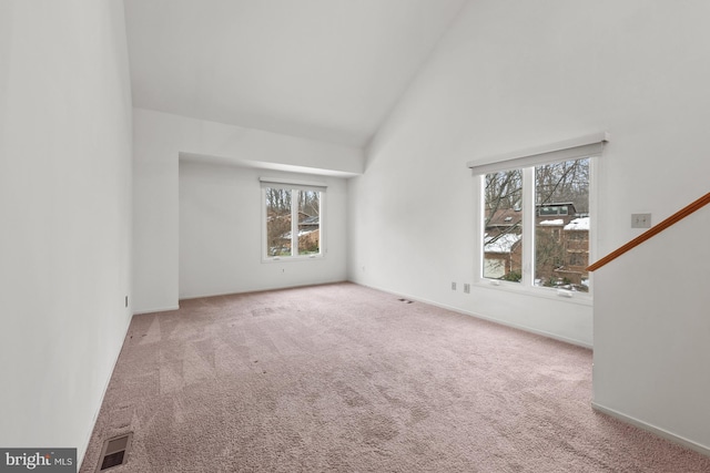
[[[327,184],[323,258],[262,261],[261,176]],[[181,160],[180,298],[345,280],[346,208],[342,178]]]

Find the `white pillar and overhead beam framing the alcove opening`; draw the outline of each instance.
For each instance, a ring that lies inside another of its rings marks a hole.
[[[136,312],[178,307],[180,154],[202,162],[339,177],[363,169],[363,152],[354,147],[140,109],[134,110],[133,123]],[[305,274],[303,279],[293,278],[295,284],[313,280]]]

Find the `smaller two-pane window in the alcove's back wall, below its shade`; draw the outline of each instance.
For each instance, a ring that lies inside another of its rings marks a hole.
[[[262,178],[262,192],[264,259],[322,255],[325,187]]]

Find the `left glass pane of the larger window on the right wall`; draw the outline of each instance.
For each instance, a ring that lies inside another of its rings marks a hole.
[[[485,278],[519,282],[523,277],[523,171],[485,176]]]

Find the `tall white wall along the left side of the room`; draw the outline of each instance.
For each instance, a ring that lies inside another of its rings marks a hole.
[[[131,317],[119,0],[0,3],[0,445],[83,456]]]

